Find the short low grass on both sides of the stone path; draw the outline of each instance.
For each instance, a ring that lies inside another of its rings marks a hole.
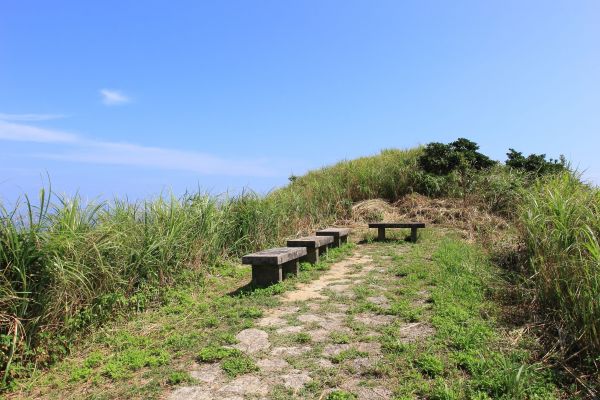
[[[247,282],[246,268],[221,267],[219,275],[204,281],[190,279],[189,285],[170,291],[160,308],[107,325],[49,372],[21,382],[10,397],[158,398],[170,387],[189,384],[186,371],[198,354],[203,354],[203,359],[215,358],[215,346],[234,343],[237,332],[253,326],[264,310],[278,304],[277,293],[292,289],[296,281],[318,276],[328,263],[352,251],[352,246],[340,250],[316,269],[303,272],[298,280],[234,296],[223,294]],[[477,246],[463,242],[451,231],[432,229],[425,231],[417,245],[377,244],[372,256],[386,269],[385,276],[378,278],[388,282],[392,306],[390,310],[377,309],[366,300],[377,293],[365,286],[355,289],[357,299],[350,313],[375,309],[399,318],[377,339],[385,357],[367,374],[397,382],[396,398],[560,396],[551,373],[533,361],[535,348],[527,335],[518,336],[518,330],[500,322],[499,307],[490,298],[504,283]],[[415,305],[423,292],[429,293],[429,300]],[[407,322],[430,324],[436,333],[405,344],[398,328]],[[364,329],[360,324],[350,326],[353,335]],[[241,361],[234,360],[233,370],[231,362],[223,367],[232,375],[252,372],[252,363]],[[337,372],[312,372],[320,378],[297,393],[298,398],[319,398],[323,390],[339,383]],[[351,393],[346,394],[352,398]],[[281,399],[294,396],[282,388],[275,388],[271,395]]]

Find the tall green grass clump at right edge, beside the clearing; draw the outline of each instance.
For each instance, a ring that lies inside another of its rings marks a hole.
[[[538,181],[521,206],[532,281],[568,352],[600,352],[600,191],[572,173]]]

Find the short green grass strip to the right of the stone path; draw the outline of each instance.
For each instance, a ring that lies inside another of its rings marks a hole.
[[[431,254],[429,261],[424,254]],[[495,297],[507,282],[480,248],[452,234],[433,235],[392,261],[390,274],[397,276],[399,268],[405,274],[397,277],[402,288],[392,304],[407,309],[418,296],[430,296],[418,324],[433,331],[407,342],[401,331],[411,319],[396,312],[403,321],[384,329],[382,370],[399,382],[395,398],[561,398],[560,378],[536,362],[539,347],[525,339],[514,342],[503,331]]]

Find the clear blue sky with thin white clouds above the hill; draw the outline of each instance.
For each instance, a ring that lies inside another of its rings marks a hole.
[[[598,1],[0,0],[0,200],[266,191],[467,137],[600,181]]]

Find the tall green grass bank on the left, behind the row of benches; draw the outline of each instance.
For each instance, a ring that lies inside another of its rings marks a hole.
[[[186,271],[347,218],[354,201],[408,193],[418,152],[345,161],[267,196],[85,203],[42,190],[38,202],[0,208],[2,383],[52,362],[82,330],[143,309]]]

